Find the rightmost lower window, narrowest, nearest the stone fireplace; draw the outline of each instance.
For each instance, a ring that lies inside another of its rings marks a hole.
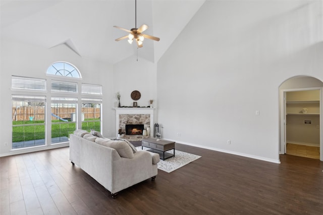
[[[101,132],[101,99],[82,99],[82,129]]]

